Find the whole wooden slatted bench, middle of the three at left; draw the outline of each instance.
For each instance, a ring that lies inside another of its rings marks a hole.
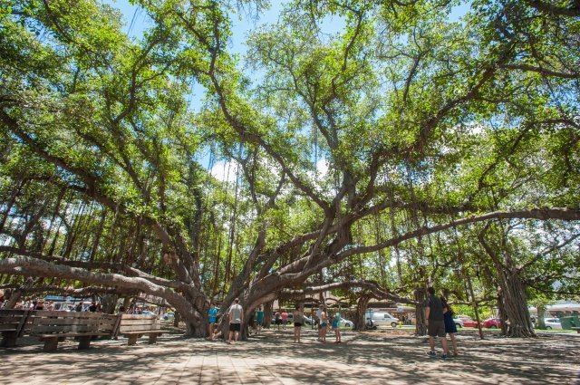
[[[118,318],[102,313],[37,310],[32,314],[30,334],[44,342],[43,351],[55,351],[58,342],[68,337],[79,340],[79,349],[88,349],[93,338],[114,332],[111,317]]]

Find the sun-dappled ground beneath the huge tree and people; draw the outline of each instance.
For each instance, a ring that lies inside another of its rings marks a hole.
[[[74,341],[43,353],[24,339],[0,349],[0,384],[574,384],[580,385],[580,334],[545,333],[511,339],[459,332],[459,357],[427,356],[427,339],[411,330],[343,332],[343,343],[316,342],[304,330],[266,331],[228,345],[168,334],[149,345],[126,340]],[[437,345],[440,352],[440,345]]]

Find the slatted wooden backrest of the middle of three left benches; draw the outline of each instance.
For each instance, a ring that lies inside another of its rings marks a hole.
[[[31,334],[63,332],[99,332],[102,313],[37,310],[33,314]]]

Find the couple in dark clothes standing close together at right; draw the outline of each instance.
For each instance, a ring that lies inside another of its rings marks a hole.
[[[453,310],[443,296],[438,297],[435,295],[435,289],[433,287],[427,289],[427,292],[429,298],[425,302],[425,319],[427,320],[427,333],[429,334],[429,356],[432,358],[437,357],[437,353],[435,352],[435,338],[439,337],[441,347],[443,348],[441,358],[445,360],[449,357],[449,344],[447,342],[447,334],[449,334],[453,348],[453,357],[457,357],[457,339],[455,338],[457,326],[453,322]]]

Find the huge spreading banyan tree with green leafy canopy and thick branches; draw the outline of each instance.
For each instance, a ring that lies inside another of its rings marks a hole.
[[[194,335],[218,297],[469,302],[475,265],[512,334],[527,296],[580,293],[577,2],[292,0],[244,58],[266,2],[136,4],[140,38],[2,0],[4,287],[157,295]]]

